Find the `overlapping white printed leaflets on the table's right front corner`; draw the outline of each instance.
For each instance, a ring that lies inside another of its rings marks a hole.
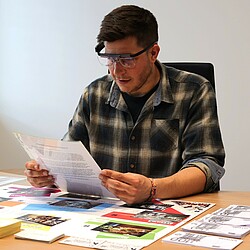
[[[234,249],[250,233],[250,206],[230,205],[182,226],[164,242],[215,249]],[[225,236],[225,237],[220,237]],[[238,239],[234,239],[238,238]]]

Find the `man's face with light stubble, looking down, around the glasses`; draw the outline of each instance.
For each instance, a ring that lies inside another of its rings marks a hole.
[[[135,37],[105,42],[105,53],[135,54],[142,49],[144,48],[137,45]],[[157,84],[159,72],[154,63],[159,50],[159,46],[154,44],[146,52],[135,57],[135,66],[133,68],[126,68],[118,61],[109,66],[110,74],[122,92],[133,96],[143,96]]]

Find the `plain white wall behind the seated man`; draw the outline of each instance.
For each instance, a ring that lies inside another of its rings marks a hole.
[[[0,169],[28,160],[12,131],[63,136],[84,86],[106,72],[94,53],[101,20],[125,3],[157,17],[161,60],[214,63],[221,186],[250,190],[249,0],[0,0]]]

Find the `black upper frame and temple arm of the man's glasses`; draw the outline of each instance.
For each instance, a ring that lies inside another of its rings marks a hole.
[[[143,54],[144,52],[146,52],[148,49],[150,49],[151,47],[154,46],[154,44],[156,44],[157,42],[153,42],[151,44],[149,44],[146,48],[140,50],[139,52],[135,53],[135,54],[130,54],[130,53],[125,53],[125,54],[113,54],[113,53],[101,53],[101,50],[104,49],[105,45],[104,42],[99,43],[96,47],[95,47],[95,51],[98,54],[99,57],[102,58],[112,58],[112,64],[111,65],[106,65],[106,66],[112,66],[115,62],[119,62],[120,59],[133,59],[141,54]],[[123,65],[123,64],[122,64]]]

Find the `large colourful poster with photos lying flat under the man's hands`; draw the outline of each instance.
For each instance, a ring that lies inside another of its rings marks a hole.
[[[22,230],[69,236],[60,241],[64,244],[141,249],[215,205],[155,200],[128,206],[120,200],[79,196],[58,189],[9,184],[0,187],[0,217],[21,220]]]

